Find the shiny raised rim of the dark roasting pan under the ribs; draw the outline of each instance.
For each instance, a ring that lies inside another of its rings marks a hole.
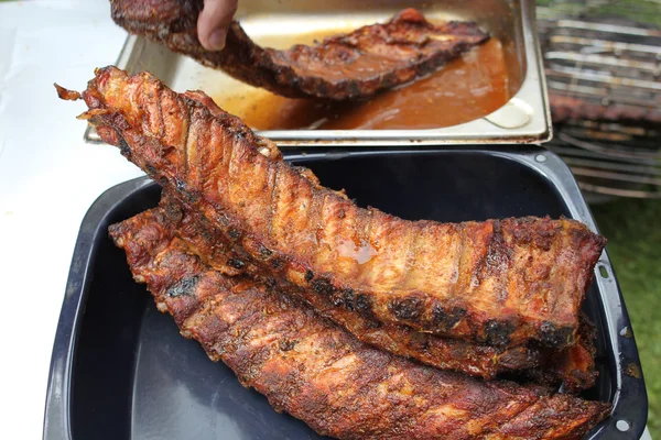
[[[361,156],[436,155],[446,153],[477,153],[498,156],[532,168],[551,182],[567,204],[572,211],[572,218],[583,221],[590,229],[598,232],[589,208],[566,165],[554,153],[537,145],[444,146],[442,148],[383,148],[380,151],[357,148],[340,151],[333,147],[327,150],[315,148],[310,153],[290,151],[285,158],[304,165],[308,161],[319,160],[339,161]],[[43,426],[43,438],[45,440],[73,439],[71,427],[73,360],[75,359],[76,343],[79,337],[82,311],[88,294],[89,275],[95,263],[95,251],[99,240],[107,237],[105,229],[109,222],[108,218],[129,196],[155,185],[148,177],[138,177],[109,188],[90,206],[80,224],[51,359]],[[602,268],[606,271],[608,277],[599,275]],[[610,350],[614,353],[619,353],[619,356],[615,358],[613,365],[610,365],[615,378],[615,392],[611,396],[613,411],[606,420],[586,436],[586,439],[639,439],[644,430],[648,413],[644,378],[641,373],[638,349],[629,316],[606,251],[602,254],[595,271],[599,305],[609,330],[607,341],[610,344]],[[624,332],[622,329],[627,329],[627,331]],[[631,369],[640,374],[630,374]],[[626,431],[618,428],[618,426],[624,425],[621,424],[622,420],[628,424],[628,430]],[[618,425],[618,422],[620,424]]]

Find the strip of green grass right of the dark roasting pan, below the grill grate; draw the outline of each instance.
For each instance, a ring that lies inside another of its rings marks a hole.
[[[652,438],[661,438],[661,201],[617,200],[594,206],[608,239],[631,318],[650,404]]]

